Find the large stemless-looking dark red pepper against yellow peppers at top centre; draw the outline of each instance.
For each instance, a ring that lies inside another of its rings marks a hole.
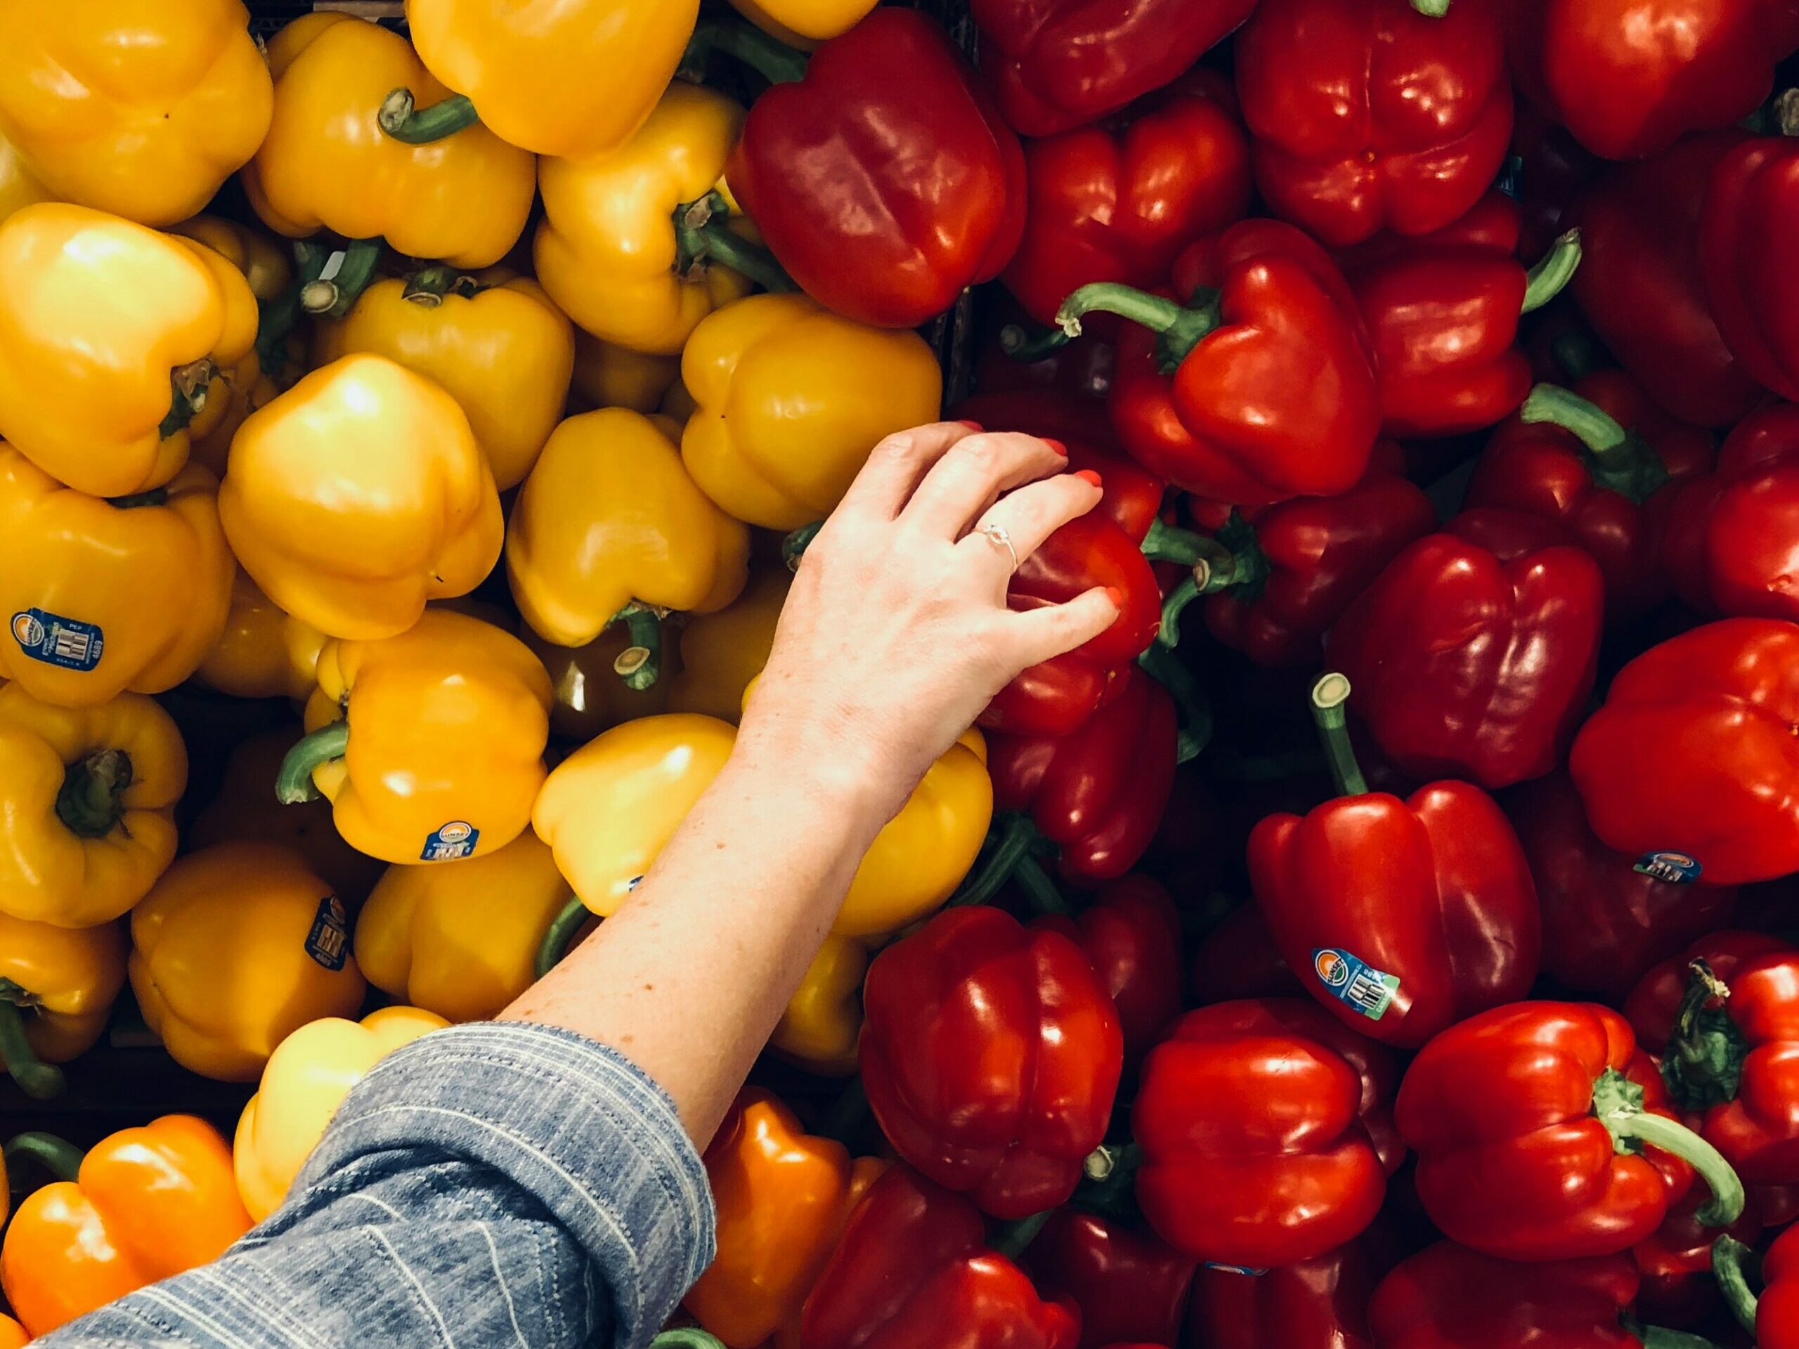
[[[919,165],[928,164],[930,173]],[[935,20],[882,7],[756,101],[727,169],[819,304],[917,327],[1024,232],[1024,151]]]

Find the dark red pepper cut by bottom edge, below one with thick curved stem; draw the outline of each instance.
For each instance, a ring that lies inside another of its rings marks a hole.
[[[1637,1297],[1628,1255],[1517,1264],[1439,1241],[1382,1279],[1380,1349],[1639,1349],[1619,1324]]]

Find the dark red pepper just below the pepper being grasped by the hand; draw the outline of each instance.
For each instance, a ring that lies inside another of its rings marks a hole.
[[[1135,867],[1175,786],[1175,700],[1135,666],[1121,683],[1067,736],[988,736],[993,804],[1029,811],[1076,883]]]

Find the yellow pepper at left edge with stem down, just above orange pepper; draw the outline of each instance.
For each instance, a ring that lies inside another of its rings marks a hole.
[[[0,1067],[25,1095],[61,1095],[63,1074],[49,1065],[94,1047],[121,987],[117,923],[58,928],[0,914]]]

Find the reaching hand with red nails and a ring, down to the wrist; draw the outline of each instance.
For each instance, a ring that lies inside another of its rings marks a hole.
[[[889,435],[804,554],[739,746],[819,764],[833,797],[891,818],[1024,669],[1117,621],[1105,590],[1013,613],[1022,563],[1099,502],[1049,441],[934,423]]]

